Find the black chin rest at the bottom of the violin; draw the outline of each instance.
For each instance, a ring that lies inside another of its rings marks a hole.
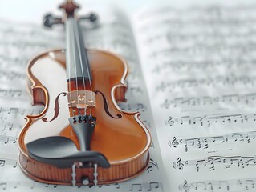
[[[92,162],[104,168],[110,167],[104,154],[92,150],[79,151],[75,143],[65,137],[39,138],[27,143],[26,149],[30,158],[59,168],[71,167],[74,162],[83,162],[84,165]]]

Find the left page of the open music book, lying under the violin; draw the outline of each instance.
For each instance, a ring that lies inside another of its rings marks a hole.
[[[97,12],[97,10],[95,10]],[[86,45],[90,48],[112,50],[123,56],[130,66],[127,103],[124,110],[141,113],[141,120],[152,134],[150,162],[144,173],[127,182],[104,186],[58,186],[35,182],[25,176],[18,166],[17,135],[25,123],[26,114],[39,114],[40,106],[31,106],[26,92],[26,64],[43,50],[63,47],[62,26],[46,30],[39,25],[0,22],[0,190],[2,191],[163,191],[164,167],[158,145],[147,92],[142,78],[131,26],[128,18],[112,10],[100,15],[98,26],[82,26]]]

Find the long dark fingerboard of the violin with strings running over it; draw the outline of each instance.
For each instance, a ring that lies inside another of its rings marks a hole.
[[[67,17],[65,27],[67,82],[72,80],[91,81],[91,69],[87,50],[85,50],[83,45],[83,34],[79,22],[74,17],[69,16]]]

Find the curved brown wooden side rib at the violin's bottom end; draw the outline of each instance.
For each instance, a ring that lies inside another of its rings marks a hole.
[[[142,157],[134,159],[132,162],[123,163],[110,168],[98,167],[98,182],[100,185],[114,182],[122,182],[130,178],[136,177],[148,165],[148,153]],[[71,168],[60,169],[56,166],[36,162],[34,159],[26,158],[20,155],[19,163],[22,165],[22,170],[32,179],[39,182],[47,182],[57,185],[71,185]],[[47,170],[47,171],[46,171]],[[83,178],[88,178],[93,181],[93,168],[78,168],[75,170],[76,185],[83,185]],[[36,177],[34,176],[36,175]],[[93,183],[90,182],[92,185]]]

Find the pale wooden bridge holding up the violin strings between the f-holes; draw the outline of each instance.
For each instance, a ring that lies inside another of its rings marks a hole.
[[[68,106],[87,108],[96,106],[95,92],[91,90],[73,90],[67,94]]]

